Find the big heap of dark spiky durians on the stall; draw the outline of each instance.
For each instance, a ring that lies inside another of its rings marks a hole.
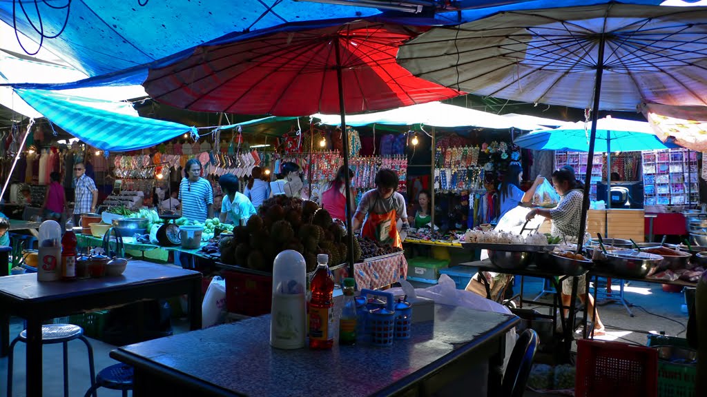
[[[271,272],[275,256],[286,249],[300,252],[307,271],[317,268],[317,254],[329,255],[329,266],[346,262],[346,227],[313,201],[276,196],[260,206],[245,226],[233,229],[233,237],[219,242],[223,263]],[[354,261],[361,247],[354,240]]]

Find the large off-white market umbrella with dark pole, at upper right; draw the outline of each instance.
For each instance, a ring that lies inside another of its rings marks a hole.
[[[433,29],[402,47],[398,61],[416,76],[477,95],[593,109],[590,181],[598,110],[636,110],[641,102],[707,105],[706,21],[703,7],[609,3],[505,11]],[[581,246],[583,232],[578,238]]]

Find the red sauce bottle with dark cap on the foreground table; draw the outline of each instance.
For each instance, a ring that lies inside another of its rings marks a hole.
[[[310,349],[330,349],[334,345],[334,278],[329,272],[329,256],[317,256],[317,270],[312,276],[308,324]]]

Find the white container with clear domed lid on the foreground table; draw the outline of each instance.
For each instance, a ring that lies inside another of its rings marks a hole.
[[[298,251],[277,254],[272,271],[270,345],[279,349],[305,347],[305,285],[307,263]]]

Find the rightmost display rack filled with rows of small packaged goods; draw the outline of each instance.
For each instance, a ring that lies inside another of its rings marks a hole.
[[[645,206],[696,206],[699,203],[696,152],[646,150],[641,157]]]

